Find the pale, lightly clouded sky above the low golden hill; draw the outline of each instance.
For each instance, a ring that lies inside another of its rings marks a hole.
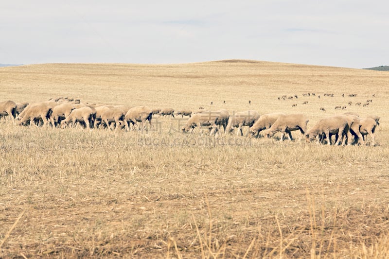
[[[388,0],[3,0],[0,63],[389,65]]]

